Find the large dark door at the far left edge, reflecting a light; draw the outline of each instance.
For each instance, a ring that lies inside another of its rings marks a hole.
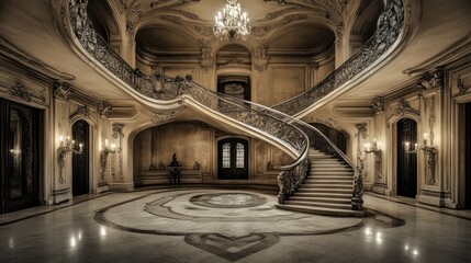
[[[1,101],[1,213],[38,205],[42,111]]]

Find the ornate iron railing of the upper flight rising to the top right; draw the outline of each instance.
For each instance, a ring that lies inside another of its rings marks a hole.
[[[404,2],[408,1],[384,0],[384,11],[378,19],[377,31],[360,49],[313,88],[272,107],[289,115],[296,115],[332,94],[354,77],[358,77],[385,54],[401,36],[405,24]]]

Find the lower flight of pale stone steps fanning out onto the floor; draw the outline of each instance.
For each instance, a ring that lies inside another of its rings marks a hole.
[[[304,183],[279,208],[328,216],[365,216],[352,210],[354,170],[337,158],[311,147],[311,169]]]

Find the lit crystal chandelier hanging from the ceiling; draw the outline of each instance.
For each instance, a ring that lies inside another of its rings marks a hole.
[[[215,16],[216,24],[213,32],[216,38],[221,41],[247,39],[250,34],[249,19],[246,12],[242,12],[237,0],[227,0],[223,12],[217,12]]]

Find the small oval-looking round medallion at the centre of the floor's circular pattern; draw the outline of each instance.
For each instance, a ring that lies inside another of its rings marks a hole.
[[[195,195],[190,198],[190,202],[200,206],[218,208],[243,208],[262,205],[267,203],[267,199],[256,194],[221,193]]]

